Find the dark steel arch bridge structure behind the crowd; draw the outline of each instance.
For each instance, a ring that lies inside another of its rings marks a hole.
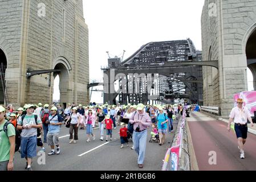
[[[123,62],[108,59],[108,67],[101,68],[104,103],[173,104],[184,98],[202,104],[202,65],[217,67],[205,62],[190,39],[147,43]]]

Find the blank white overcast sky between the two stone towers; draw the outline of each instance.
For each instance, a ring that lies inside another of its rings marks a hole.
[[[125,60],[146,43],[187,38],[201,50],[203,6],[204,0],[83,0],[90,78],[102,80],[100,66],[107,65],[106,51],[114,57],[125,50]],[[94,92],[92,100],[102,102],[103,97]]]

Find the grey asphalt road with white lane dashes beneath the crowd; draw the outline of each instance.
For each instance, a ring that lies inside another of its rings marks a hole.
[[[69,143],[69,129],[64,125],[60,128],[59,145],[60,154],[48,156],[51,151],[50,146],[44,143],[46,147],[45,164],[42,163],[43,155],[38,152],[38,156],[32,159],[33,171],[160,171],[162,160],[165,152],[170,147],[173,141],[174,133],[177,129],[177,121],[174,122],[174,132],[167,133],[165,144],[159,146],[158,143],[149,143],[151,127],[148,129],[147,148],[145,152],[144,168],[140,169],[137,166],[137,154],[131,150],[132,140],[129,140],[129,147],[124,144],[124,148],[120,148],[119,129],[113,129],[112,141],[100,140],[100,133],[97,126],[93,130],[96,134],[96,139],[91,142],[86,142],[86,129],[78,130],[77,143]],[[37,147],[37,151],[40,147]],[[39,162],[38,162],[39,161]],[[19,152],[15,152],[14,170],[25,171],[26,160],[21,159]]]

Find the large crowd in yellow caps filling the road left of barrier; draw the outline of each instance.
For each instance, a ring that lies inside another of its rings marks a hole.
[[[92,130],[99,126],[100,140],[112,140],[113,130],[120,125],[120,148],[129,146],[132,139],[138,155],[138,166],[143,168],[147,129],[152,126],[152,140],[159,139],[159,145],[165,143],[166,133],[173,132],[173,121],[181,113],[182,105],[90,105],[68,104],[65,109],[60,104],[26,104],[17,110],[9,105],[0,106],[0,171],[13,170],[14,152],[19,151],[26,159],[26,169],[31,171],[32,158],[36,148],[45,152],[45,144],[50,146],[48,155],[60,154],[60,127],[69,128],[70,142],[77,143],[78,131],[86,129],[87,142],[95,140]],[[11,123],[11,125],[9,125]],[[106,132],[104,132],[106,131]],[[20,142],[18,136],[20,134]],[[74,134],[74,137],[73,137]],[[18,145],[18,148],[17,148]],[[55,150],[56,147],[56,150]]]

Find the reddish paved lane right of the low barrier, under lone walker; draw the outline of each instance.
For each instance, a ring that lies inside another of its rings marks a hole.
[[[248,133],[245,159],[240,159],[237,138],[233,130],[227,131],[227,123],[200,112],[192,112],[186,119],[200,171],[256,170],[256,135]]]

